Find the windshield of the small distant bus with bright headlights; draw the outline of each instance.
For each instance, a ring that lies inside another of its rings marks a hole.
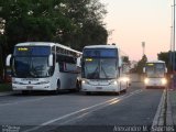
[[[147,77],[164,77],[165,66],[164,64],[147,64],[146,65],[146,76]]]

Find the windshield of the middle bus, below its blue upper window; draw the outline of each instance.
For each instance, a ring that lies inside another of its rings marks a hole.
[[[116,58],[85,58],[84,77],[88,79],[117,78]]]

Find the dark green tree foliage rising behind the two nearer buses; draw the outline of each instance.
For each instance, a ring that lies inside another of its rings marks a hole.
[[[58,42],[77,50],[107,43],[108,32],[102,22],[107,11],[99,0],[1,0],[0,3],[8,53],[14,44],[25,41]]]

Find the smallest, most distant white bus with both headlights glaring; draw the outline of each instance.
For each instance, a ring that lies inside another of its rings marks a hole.
[[[154,61],[147,62],[143,72],[145,73],[145,87],[163,87],[167,85],[166,73],[167,68],[165,62]]]

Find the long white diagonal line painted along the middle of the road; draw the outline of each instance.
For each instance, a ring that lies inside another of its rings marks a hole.
[[[130,92],[129,95],[124,95],[124,96],[122,96],[122,97],[117,97],[117,98],[113,98],[113,99],[110,99],[110,100],[107,100],[107,101],[103,101],[103,102],[94,105],[94,106],[91,106],[91,107],[87,107],[87,108],[80,109],[80,110],[78,110],[78,111],[70,112],[70,113],[65,114],[65,116],[63,116],[63,117],[58,117],[58,118],[55,118],[55,119],[53,119],[53,120],[46,121],[46,122],[40,124],[38,127],[35,127],[35,128],[25,130],[25,131],[23,131],[23,132],[31,132],[31,131],[38,130],[38,129],[43,128],[44,125],[52,124],[52,123],[54,123],[54,122],[56,122],[56,121],[66,119],[66,118],[68,118],[68,117],[70,117],[70,116],[74,116],[74,114],[77,114],[77,113],[80,113],[80,112],[84,112],[84,111],[86,112],[86,111],[88,111],[88,110],[91,110],[91,109],[97,108],[97,107],[100,107],[100,106],[106,106],[107,103],[108,103],[107,106],[110,106],[110,105],[112,105],[114,101],[119,102],[119,101],[121,101],[121,100],[123,100],[123,99],[127,99],[127,98],[129,98],[129,97],[131,97],[131,96],[133,96],[133,95],[138,95],[138,94],[140,94],[140,92],[142,92],[142,91],[143,91],[143,90],[141,90],[141,89],[140,89],[140,90],[135,90],[135,91],[133,91],[133,92]]]

